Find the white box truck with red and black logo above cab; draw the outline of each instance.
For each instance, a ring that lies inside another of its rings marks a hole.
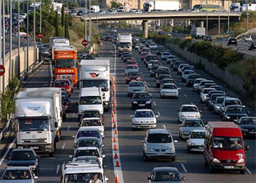
[[[109,60],[82,60],[80,61],[79,87],[101,88],[105,111],[110,108],[110,65]]]

